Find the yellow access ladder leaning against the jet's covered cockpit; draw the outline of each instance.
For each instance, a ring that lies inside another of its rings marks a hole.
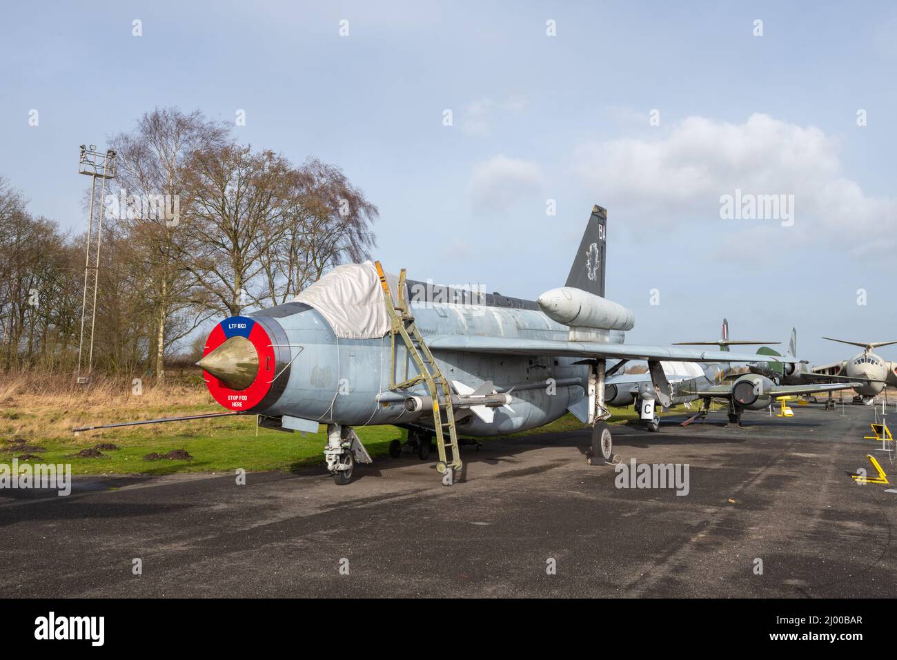
[[[436,470],[440,474],[444,473],[448,468],[452,470],[461,470],[463,463],[461,462],[461,453],[458,448],[457,431],[455,429],[455,410],[452,408],[451,402],[451,386],[448,380],[442,374],[440,367],[436,364],[436,359],[423,340],[421,331],[414,322],[414,316],[410,311],[410,305],[405,301],[405,268],[402,268],[398,276],[398,299],[394,300],[389,292],[389,284],[387,277],[383,272],[383,267],[379,261],[376,261],[377,274],[380,278],[380,286],[383,288],[383,297],[386,301],[387,312],[392,321],[392,330],[390,332],[390,341],[392,348],[391,374],[389,378],[389,389],[405,390],[413,387],[417,383],[425,383],[427,391],[430,392],[430,400],[433,407],[433,428],[436,431],[436,449],[439,453],[440,460],[436,463]],[[396,383],[396,335],[399,335],[405,342],[405,348],[408,355],[414,360],[417,367],[417,375],[411,378],[407,377],[407,367],[405,368],[405,381]],[[442,413],[445,413],[447,421],[442,421]],[[448,442],[444,428],[448,427]],[[450,452],[450,456],[449,456]]]

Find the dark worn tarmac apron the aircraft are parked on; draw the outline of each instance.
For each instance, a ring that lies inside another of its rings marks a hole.
[[[451,487],[408,454],[344,487],[322,467],[4,489],[0,582],[7,597],[897,594],[897,467],[863,439],[873,409],[793,409],[614,427],[623,463],[687,463],[684,496],[616,488],[586,430],[465,447]],[[875,474],[867,453],[892,485],[853,482]]]

